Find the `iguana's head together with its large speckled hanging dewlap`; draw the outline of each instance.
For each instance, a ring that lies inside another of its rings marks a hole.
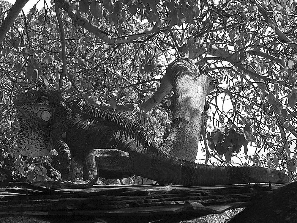
[[[18,110],[20,154],[33,157],[49,154],[52,149],[49,125],[57,107],[63,107],[64,103],[60,93],[31,90],[15,96],[13,103]]]

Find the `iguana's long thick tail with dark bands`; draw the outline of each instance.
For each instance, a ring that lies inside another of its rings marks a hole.
[[[187,186],[211,186],[240,183],[290,183],[279,170],[263,167],[213,167],[196,164],[153,152],[130,153],[135,175]]]

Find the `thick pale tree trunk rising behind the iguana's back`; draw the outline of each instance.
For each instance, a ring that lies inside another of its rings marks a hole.
[[[160,150],[168,155],[195,161],[206,95],[211,78],[200,74],[187,59],[177,59],[167,68],[168,81],[176,94],[170,134]]]

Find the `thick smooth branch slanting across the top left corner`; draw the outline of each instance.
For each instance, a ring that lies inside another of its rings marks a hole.
[[[18,14],[20,13],[20,11],[23,9],[23,7],[28,1],[29,0],[15,1],[15,4],[11,7],[8,15],[6,16],[6,18],[4,19],[3,23],[0,26],[0,43],[2,43],[2,41],[5,38],[5,35],[7,34],[10,27],[13,25],[15,19],[18,17]]]

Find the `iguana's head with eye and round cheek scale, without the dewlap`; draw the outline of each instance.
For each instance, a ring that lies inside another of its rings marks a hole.
[[[53,119],[53,107],[48,92],[43,89],[16,95],[13,103],[19,113],[32,120],[48,122]]]

